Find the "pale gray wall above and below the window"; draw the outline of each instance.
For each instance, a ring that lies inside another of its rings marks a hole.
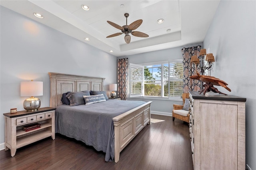
[[[146,52],[142,54],[134,54],[130,56],[122,56],[118,58],[128,58],[128,62],[132,64],[142,64],[142,63],[148,63],[148,62],[159,62],[159,61],[166,61],[166,60],[176,60],[176,59],[182,59],[182,52],[181,49],[183,47],[188,48],[192,46],[203,46],[203,43],[196,43],[196,44],[190,44],[182,47],[176,47],[176,48],[169,48],[166,50],[159,50],[159,51],[153,51],[153,52]],[[172,115],[172,109],[173,104],[182,104],[181,100],[159,100],[154,99],[153,97],[150,99],[144,99],[142,97],[140,98],[128,98],[128,100],[142,100],[145,102],[152,101],[151,104],[151,111],[155,114],[164,114],[171,116]]]

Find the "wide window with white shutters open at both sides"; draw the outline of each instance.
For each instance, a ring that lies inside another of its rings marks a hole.
[[[183,93],[183,64],[161,62],[130,64],[130,97],[175,98]]]

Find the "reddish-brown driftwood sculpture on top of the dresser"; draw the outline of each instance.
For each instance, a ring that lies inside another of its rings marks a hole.
[[[195,64],[196,65],[196,64]],[[205,75],[200,75],[196,69],[196,75],[195,76],[190,76],[189,78],[192,79],[196,79],[196,80],[200,80],[201,82],[204,82],[205,84],[204,89],[201,90],[200,94],[202,92],[204,92],[203,94],[205,94],[206,92],[214,92],[214,93],[219,93],[219,94],[225,94],[220,92],[217,88],[215,88],[213,85],[215,86],[222,86],[224,88],[226,88],[228,91],[231,92],[230,88],[228,88],[226,85],[228,85],[226,82],[224,82],[223,80],[220,80],[216,77],[213,76],[205,76]],[[227,95],[227,94],[225,94]]]

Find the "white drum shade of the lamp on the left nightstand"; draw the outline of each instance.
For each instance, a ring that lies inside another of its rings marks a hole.
[[[43,96],[43,82],[20,82],[20,96]]]

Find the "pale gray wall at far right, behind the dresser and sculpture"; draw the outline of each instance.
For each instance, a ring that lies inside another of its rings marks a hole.
[[[256,170],[256,1],[220,1],[204,39],[216,56],[212,76],[246,100],[246,164]],[[232,127],[230,127],[232,128]]]

